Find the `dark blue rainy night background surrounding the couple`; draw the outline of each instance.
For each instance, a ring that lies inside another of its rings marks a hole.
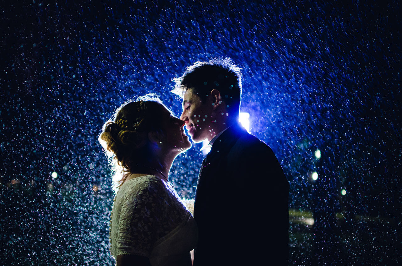
[[[112,265],[103,123],[148,92],[179,114],[172,78],[226,56],[290,183],[289,264],[402,263],[399,1],[127,2],[0,6],[1,265]],[[170,172],[185,198],[200,148]]]

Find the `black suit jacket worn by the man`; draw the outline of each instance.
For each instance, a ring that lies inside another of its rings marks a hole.
[[[287,265],[288,196],[271,148],[240,125],[226,129],[199,174],[194,265]]]

